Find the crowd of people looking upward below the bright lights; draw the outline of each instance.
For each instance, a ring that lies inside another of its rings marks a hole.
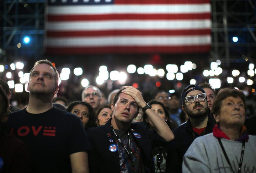
[[[0,172],[256,173],[256,115],[246,117],[239,89],[204,82],[145,100],[132,86],[104,97],[89,85],[68,103],[58,80],[54,64],[37,61],[18,109],[0,79]]]

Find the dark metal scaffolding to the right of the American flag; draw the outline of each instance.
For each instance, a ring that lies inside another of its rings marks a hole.
[[[212,0],[212,49],[210,58],[227,66],[256,58],[256,1]],[[238,37],[234,43],[232,37]]]

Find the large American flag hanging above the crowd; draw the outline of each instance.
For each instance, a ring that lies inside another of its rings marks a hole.
[[[48,54],[205,53],[210,0],[48,0]]]

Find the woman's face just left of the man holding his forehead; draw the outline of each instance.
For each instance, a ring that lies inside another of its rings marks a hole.
[[[109,104],[100,106],[96,112],[96,117],[98,118],[98,125],[104,125],[112,117],[112,109]]]

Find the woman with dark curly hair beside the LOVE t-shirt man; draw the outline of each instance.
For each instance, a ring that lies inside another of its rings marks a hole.
[[[81,101],[71,102],[66,108],[66,111],[77,115],[81,119],[85,130],[91,127],[97,127],[98,119],[89,103]]]

